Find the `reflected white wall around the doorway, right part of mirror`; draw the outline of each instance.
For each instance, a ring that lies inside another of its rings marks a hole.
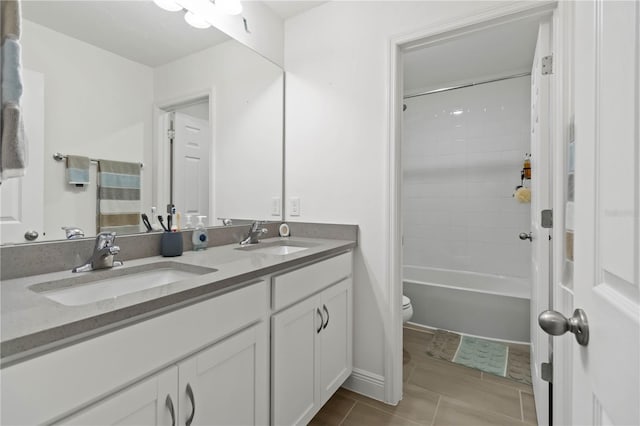
[[[282,70],[229,41],[156,68],[154,81],[161,104],[213,93],[212,218],[279,219],[271,205],[282,196]]]

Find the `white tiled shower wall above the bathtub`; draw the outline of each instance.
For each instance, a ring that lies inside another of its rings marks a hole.
[[[530,277],[518,234],[531,204],[512,197],[530,152],[530,91],[521,77],[405,101],[405,265]]]

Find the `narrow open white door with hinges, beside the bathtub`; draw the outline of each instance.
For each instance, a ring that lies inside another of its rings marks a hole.
[[[549,309],[550,230],[543,228],[542,210],[551,209],[550,79],[542,73],[545,56],[551,55],[551,24],[538,29],[531,70],[531,379],[538,424],[549,423],[549,383],[542,380],[541,365],[550,361],[549,336],[538,326],[538,314]]]

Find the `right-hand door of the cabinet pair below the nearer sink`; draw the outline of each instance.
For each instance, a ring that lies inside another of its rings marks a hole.
[[[267,338],[262,322],[178,364],[178,424],[267,424]]]

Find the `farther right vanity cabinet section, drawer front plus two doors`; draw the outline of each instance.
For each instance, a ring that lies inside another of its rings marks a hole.
[[[345,253],[273,278],[274,425],[308,423],[351,374],[351,276]]]

